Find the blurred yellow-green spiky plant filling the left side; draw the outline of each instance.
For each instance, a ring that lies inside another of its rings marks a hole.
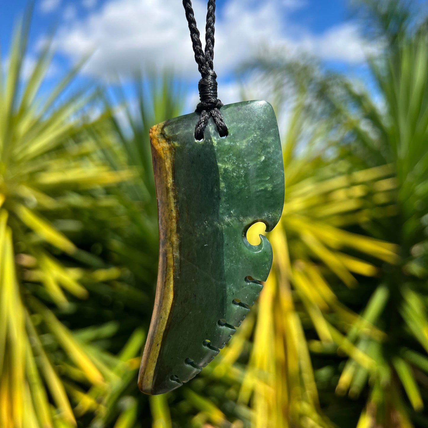
[[[119,204],[100,196],[133,173],[113,171],[97,154],[100,142],[81,114],[92,95],[62,96],[78,68],[42,96],[47,45],[23,79],[29,22],[28,15],[18,26],[0,80],[0,425],[69,427],[76,425],[70,398],[88,401],[78,385],[104,392],[118,360],[106,364],[104,351],[74,336],[54,308],[86,298],[84,282],[106,277],[108,267],[76,245],[82,208],[107,224]],[[110,271],[107,280],[120,274]]]

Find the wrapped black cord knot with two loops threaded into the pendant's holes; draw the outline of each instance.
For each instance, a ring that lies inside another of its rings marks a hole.
[[[203,140],[205,127],[210,117],[213,118],[217,126],[220,137],[227,135],[227,127],[223,121],[219,108],[223,103],[217,98],[217,74],[211,68],[199,80],[199,99],[200,103],[196,106],[196,113],[199,113],[199,120],[195,128],[196,140]]]

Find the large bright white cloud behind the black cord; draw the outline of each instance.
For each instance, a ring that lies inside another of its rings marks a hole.
[[[302,4],[299,0],[226,2],[216,20],[217,74],[227,74],[266,46],[304,50],[321,59],[364,59],[363,42],[351,24],[332,27],[317,36],[293,24],[288,14]],[[193,8],[203,41],[206,1],[194,0]],[[197,76],[183,6],[177,0],[109,0],[83,20],[65,24],[57,43],[74,59],[93,52],[84,72],[98,77],[150,67],[170,67],[189,77]]]

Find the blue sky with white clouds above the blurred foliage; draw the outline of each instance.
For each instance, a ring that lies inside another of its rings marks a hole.
[[[219,96],[237,96],[233,70],[260,50],[290,55],[308,52],[328,66],[360,73],[366,44],[349,19],[346,0],[217,0],[214,68]],[[7,58],[14,23],[27,0],[3,0],[0,44]],[[198,27],[205,24],[206,0],[194,0]],[[181,0],[36,0],[26,67],[30,70],[49,31],[57,54],[52,83],[73,62],[92,52],[81,80],[110,82],[137,68],[168,65],[194,85],[198,80]],[[223,95],[222,95],[223,93]]]

